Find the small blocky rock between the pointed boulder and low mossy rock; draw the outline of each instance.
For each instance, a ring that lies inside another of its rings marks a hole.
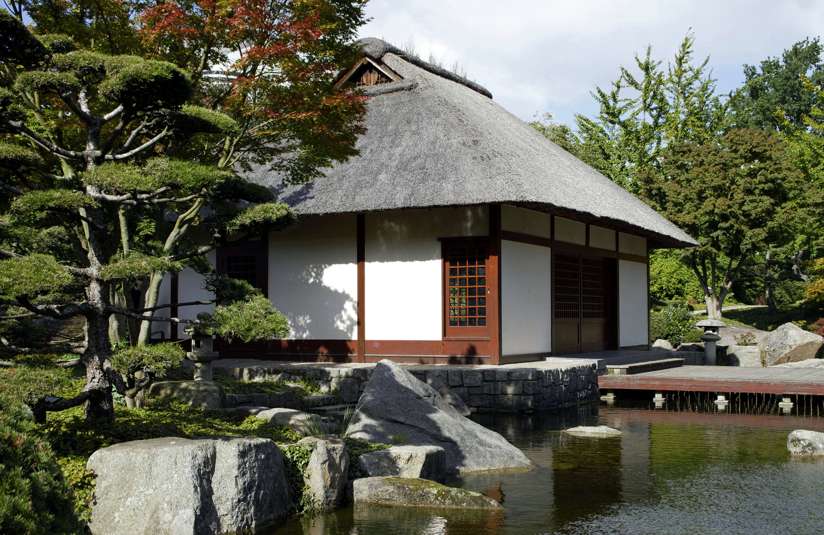
[[[419,477],[438,481],[447,475],[447,454],[438,446],[392,446],[360,456],[369,477]]]

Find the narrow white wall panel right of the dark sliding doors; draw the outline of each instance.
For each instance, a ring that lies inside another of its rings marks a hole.
[[[619,345],[639,346],[649,343],[647,264],[618,261]]]

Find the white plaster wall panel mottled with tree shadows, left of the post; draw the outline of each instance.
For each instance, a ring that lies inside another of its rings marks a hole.
[[[269,235],[269,300],[289,338],[358,338],[356,216],[302,217]]]

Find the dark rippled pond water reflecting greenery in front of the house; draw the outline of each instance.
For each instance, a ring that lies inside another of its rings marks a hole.
[[[256,533],[824,533],[824,458],[787,453],[791,430],[824,431],[821,400],[806,400],[791,414],[752,397],[720,412],[712,403],[681,398],[663,407],[620,400],[475,414],[535,468],[446,482],[499,500],[503,513],[355,504]],[[623,434],[560,432],[598,425]]]

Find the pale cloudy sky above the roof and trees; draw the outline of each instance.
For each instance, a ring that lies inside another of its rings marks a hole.
[[[570,125],[597,114],[590,91],[608,88],[648,44],[666,67],[691,29],[696,58],[709,55],[728,93],[744,63],[824,34],[824,0],[370,0],[366,13],[361,37],[414,40],[421,58],[458,61],[520,119],[550,112]]]

